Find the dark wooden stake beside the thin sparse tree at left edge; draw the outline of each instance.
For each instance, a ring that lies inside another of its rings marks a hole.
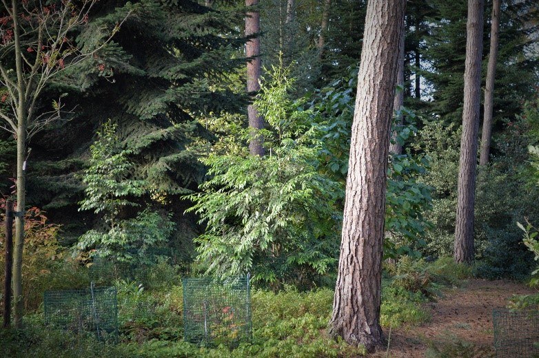
[[[3,328],[11,325],[11,282],[13,268],[13,202],[6,202],[6,261],[3,281]]]

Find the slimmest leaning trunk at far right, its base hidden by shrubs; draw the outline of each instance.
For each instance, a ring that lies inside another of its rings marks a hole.
[[[479,165],[486,165],[489,162],[490,140],[492,136],[492,111],[494,109],[494,79],[496,78],[496,62],[498,60],[498,32],[500,32],[500,7],[500,0],[492,1],[489,66],[487,68],[487,83],[485,86],[485,113],[483,114]]]

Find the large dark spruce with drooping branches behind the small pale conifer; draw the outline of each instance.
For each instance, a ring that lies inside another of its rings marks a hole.
[[[84,48],[107,29],[116,29],[114,36],[50,87],[50,96],[69,94],[64,99],[75,108],[74,118],[36,136],[29,200],[66,222],[67,235],[94,226],[88,214],[76,213],[84,189],[77,175],[86,165],[96,129],[110,118],[125,156],[134,163],[130,178],[147,182],[141,200],[159,198],[161,205],[183,211],[185,204],[171,198],[203,180],[205,168],[197,158],[205,150],[201,145],[212,138],[199,117],[237,112],[243,105],[235,78],[227,76],[244,63],[238,58],[240,18],[236,10],[210,10],[195,1],[96,3],[88,26],[74,38]],[[189,238],[196,225],[185,219],[181,233]]]

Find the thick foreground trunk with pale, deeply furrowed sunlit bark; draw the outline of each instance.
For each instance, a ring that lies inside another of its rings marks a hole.
[[[380,327],[382,244],[389,131],[405,0],[371,0],[352,124],[343,235],[330,334],[372,351]]]

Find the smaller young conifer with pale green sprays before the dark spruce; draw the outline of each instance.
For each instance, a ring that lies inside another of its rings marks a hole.
[[[90,251],[90,256],[114,255],[121,261],[143,262],[150,256],[143,255],[145,249],[164,244],[170,237],[173,228],[170,215],[163,218],[156,211],[144,209],[136,218],[121,219],[126,207],[140,206],[130,198],[142,196],[147,182],[129,178],[134,164],[126,157],[129,151],[119,146],[115,125],[105,123],[97,136],[90,147],[90,167],[82,178],[86,197],[80,204],[81,210],[101,213],[105,229],[87,231],[79,238],[77,249]]]

